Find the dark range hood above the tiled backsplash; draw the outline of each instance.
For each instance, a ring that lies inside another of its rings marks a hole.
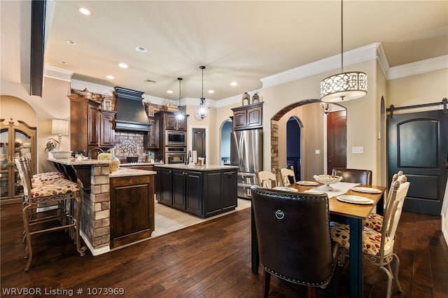
[[[116,130],[148,132],[150,124],[143,106],[144,92],[115,87],[117,99]]]

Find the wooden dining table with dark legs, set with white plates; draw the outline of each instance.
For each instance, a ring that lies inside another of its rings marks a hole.
[[[322,184],[315,186],[303,185],[289,185],[299,192],[311,190],[314,187],[319,187]],[[378,193],[356,192],[348,190],[344,194],[356,195],[372,199],[373,204],[350,204],[343,201],[338,201],[336,197],[328,198],[330,216],[338,215],[339,220],[344,220],[350,225],[350,297],[363,297],[363,226],[364,220],[367,218],[375,206],[377,206],[377,213],[383,214],[384,211],[384,191],[386,187],[379,185],[358,185],[360,187],[372,187],[380,190]],[[295,192],[297,193],[297,192]],[[255,217],[253,215],[253,208],[251,208],[251,253],[252,253],[252,272],[258,273],[260,264],[260,257],[258,255],[258,239],[255,228]]]

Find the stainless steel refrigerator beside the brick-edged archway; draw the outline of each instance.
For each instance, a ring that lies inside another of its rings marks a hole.
[[[251,185],[258,185],[256,173],[263,169],[262,129],[232,132],[230,137],[230,164],[239,166],[238,197],[251,199]]]

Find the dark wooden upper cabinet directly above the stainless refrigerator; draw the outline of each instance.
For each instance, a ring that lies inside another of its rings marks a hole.
[[[248,104],[232,108],[233,130],[262,128],[263,125],[263,101],[256,104]]]

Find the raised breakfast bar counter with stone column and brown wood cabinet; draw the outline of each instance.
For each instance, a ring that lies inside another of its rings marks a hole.
[[[83,184],[80,236],[92,255],[143,241],[154,231],[155,171],[120,168],[86,159],[48,159]]]

